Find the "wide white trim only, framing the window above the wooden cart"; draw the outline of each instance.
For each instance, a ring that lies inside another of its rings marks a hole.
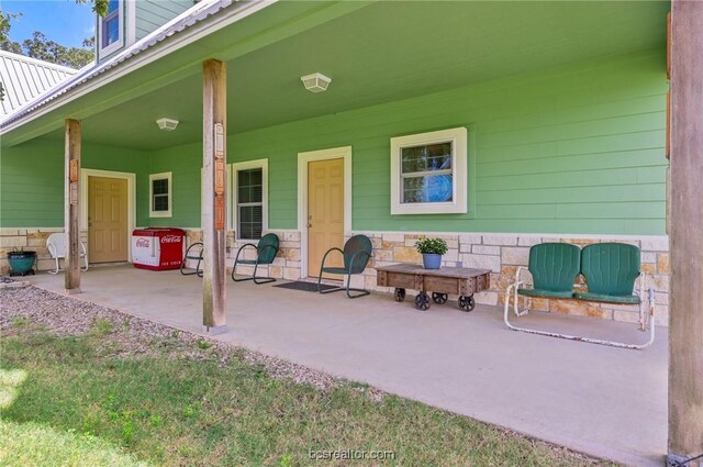
[[[417,133],[391,138],[391,215],[395,214],[466,214],[468,131],[465,126]],[[451,142],[453,196],[449,202],[401,202],[401,151],[408,146]]]

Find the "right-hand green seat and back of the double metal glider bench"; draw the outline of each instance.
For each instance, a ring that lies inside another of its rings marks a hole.
[[[573,296],[581,300],[639,304],[634,292],[639,277],[639,248],[625,243],[598,243],[581,252],[581,274],[588,292]]]

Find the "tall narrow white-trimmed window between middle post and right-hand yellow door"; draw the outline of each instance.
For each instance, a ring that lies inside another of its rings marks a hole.
[[[268,220],[268,159],[232,164],[233,219],[238,240],[259,240]]]

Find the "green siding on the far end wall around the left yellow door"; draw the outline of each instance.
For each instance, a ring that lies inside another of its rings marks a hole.
[[[0,227],[64,225],[64,142],[34,140],[2,149]],[[137,174],[137,198],[148,198],[148,155],[134,149],[83,143],[81,166]],[[147,222],[137,211],[137,224]]]

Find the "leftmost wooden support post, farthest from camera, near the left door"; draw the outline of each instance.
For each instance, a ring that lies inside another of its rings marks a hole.
[[[64,192],[64,229],[66,230],[66,273],[65,288],[67,293],[80,292],[80,122],[66,120],[65,141],[65,192]]]

